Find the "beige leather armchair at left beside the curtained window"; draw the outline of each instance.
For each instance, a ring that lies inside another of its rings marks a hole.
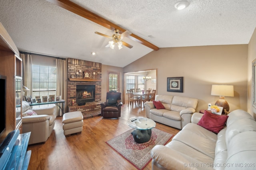
[[[33,111],[37,115],[24,116]],[[28,102],[22,101],[22,112],[22,133],[31,132],[28,145],[46,142],[55,125],[55,106],[30,109]]]

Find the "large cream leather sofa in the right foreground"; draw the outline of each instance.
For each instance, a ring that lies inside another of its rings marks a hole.
[[[213,114],[213,113],[212,113]],[[228,114],[218,135],[198,125],[201,113],[167,145],[152,151],[153,170],[252,170],[256,169],[256,121],[243,110]]]

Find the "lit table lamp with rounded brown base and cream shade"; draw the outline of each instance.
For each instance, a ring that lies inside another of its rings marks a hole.
[[[228,102],[225,100],[225,96],[234,97],[234,86],[232,85],[212,85],[212,96],[220,96],[219,100],[216,101],[215,105],[223,107],[224,110],[229,111]]]

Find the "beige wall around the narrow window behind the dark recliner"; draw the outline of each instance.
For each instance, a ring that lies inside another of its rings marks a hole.
[[[116,67],[116,66],[108,66],[102,64],[102,82],[101,82],[101,100],[102,102],[106,101],[106,93],[107,93],[107,73],[108,71],[114,71],[114,72],[119,72],[120,74],[120,92],[123,92],[123,87],[124,87],[124,72],[122,67]],[[122,93],[122,98],[124,97]]]

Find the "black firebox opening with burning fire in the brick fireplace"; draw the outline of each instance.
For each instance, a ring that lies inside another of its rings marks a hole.
[[[95,85],[76,85],[76,103],[95,101]]]

